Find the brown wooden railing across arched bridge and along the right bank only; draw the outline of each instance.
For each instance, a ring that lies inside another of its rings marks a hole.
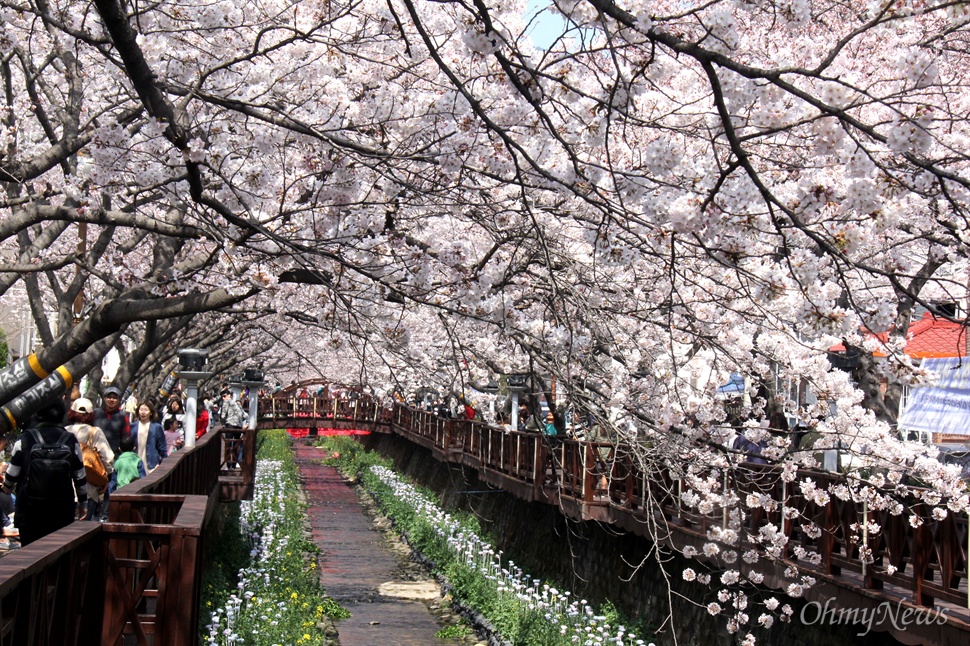
[[[377,413],[358,406],[367,413],[354,419],[343,402],[313,399],[304,398],[295,404],[292,399],[267,400],[260,404],[265,413],[261,424],[292,421],[321,427],[337,421],[393,432],[430,449],[440,460],[477,469],[482,480],[521,498],[556,504],[576,518],[613,523],[651,539],[656,538],[658,523],[669,530],[671,541],[680,545],[702,545],[709,540],[710,530],[727,526],[730,509],[701,514],[681,504],[683,483],[667,467],[643,465],[629,446],[551,439],[481,422],[444,419],[401,404]],[[270,411],[274,410],[276,414],[272,415]],[[298,417],[286,419],[290,411],[297,412]],[[320,411],[326,411],[323,417],[314,417]],[[801,494],[797,483],[809,479],[827,489],[839,477],[837,474],[799,471],[795,483],[788,484],[780,476],[778,468],[744,464],[723,481],[726,489],[737,492],[739,505],[745,504],[749,493],[776,502],[770,510],[742,514],[742,550],[759,547],[747,541],[747,536],[757,535],[770,523],[788,540],[781,556],[803,570],[875,594],[887,585],[895,586],[908,591],[910,600],[920,606],[939,601],[967,608],[970,537],[965,513],[951,512],[935,519],[925,504],[912,501],[906,514],[893,516],[835,496],[827,504],[817,505]],[[913,527],[912,515],[922,524]],[[865,521],[878,523],[881,530],[867,537],[872,560],[864,564],[859,532],[852,526]],[[816,552],[820,562],[797,559],[800,548]]]

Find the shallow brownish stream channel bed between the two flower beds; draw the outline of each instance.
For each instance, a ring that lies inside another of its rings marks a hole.
[[[323,450],[296,440],[293,456],[306,494],[312,540],[320,548],[320,583],[351,613],[328,630],[328,644],[486,644],[470,632],[465,638],[436,637],[440,629],[461,622],[450,598],[442,597],[434,578],[410,559],[410,548],[373,502],[321,463]]]

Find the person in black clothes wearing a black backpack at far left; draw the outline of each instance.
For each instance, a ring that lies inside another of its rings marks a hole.
[[[84,518],[87,503],[87,479],[84,474],[84,459],[81,445],[72,433],[69,433],[62,422],[67,407],[64,400],[57,399],[34,414],[34,424],[17,439],[10,456],[10,465],[3,481],[3,490],[7,493],[16,489],[15,522],[20,530],[21,545],[28,545],[62,527],[74,522],[75,512]],[[44,444],[52,445],[60,441],[70,449],[68,460],[71,478],[74,482],[73,492],[65,487],[63,499],[45,500],[39,504],[29,495],[28,482],[31,477],[31,449],[36,444],[34,432],[40,434]]]

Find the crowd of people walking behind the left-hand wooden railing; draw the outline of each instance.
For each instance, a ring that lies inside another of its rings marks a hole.
[[[37,410],[18,437],[0,437],[0,551],[28,545],[75,520],[106,521],[112,492],[146,477],[185,446],[185,402],[178,389],[139,399],[109,384],[100,399],[100,406],[77,392],[56,399]],[[203,393],[196,439],[210,421],[242,429],[245,404],[228,388],[219,399]],[[241,442],[234,446],[238,462]]]

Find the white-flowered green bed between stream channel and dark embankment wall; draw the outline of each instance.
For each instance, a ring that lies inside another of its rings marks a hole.
[[[472,519],[444,512],[388,467],[370,466],[362,476],[412,545],[502,639],[536,646],[644,644],[618,625],[612,607],[597,613],[585,600],[529,576],[512,561],[503,563],[502,553],[478,536]]]

